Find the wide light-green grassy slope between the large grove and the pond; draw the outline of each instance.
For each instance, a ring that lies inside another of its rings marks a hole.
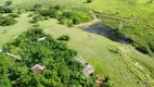
[[[145,67],[149,61],[151,62],[149,66],[154,69],[152,65],[154,61],[149,55],[138,52],[132,46],[117,44],[105,37],[54,23],[47,27],[44,33],[55,37],[68,34],[72,37],[68,42],[69,46],[94,66],[97,74],[101,76],[108,75],[114,86],[141,87],[145,83],[147,86],[154,84],[153,78],[149,74],[150,71],[146,71],[149,69]],[[46,22],[41,24],[46,24]],[[138,66],[136,67],[137,62],[141,64],[141,70]]]

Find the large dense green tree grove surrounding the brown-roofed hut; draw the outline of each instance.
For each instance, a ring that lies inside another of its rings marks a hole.
[[[38,41],[39,38],[46,39]],[[11,52],[22,58],[15,61]],[[74,60],[77,52],[42,29],[30,29],[3,46],[0,53],[0,87],[94,87],[94,76],[86,77],[84,65]],[[30,72],[35,64],[46,66],[43,74]]]

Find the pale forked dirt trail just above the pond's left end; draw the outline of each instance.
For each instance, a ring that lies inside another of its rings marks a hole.
[[[102,22],[102,20],[99,20],[97,17],[97,15],[90,11],[92,17],[93,17],[93,21],[89,22],[89,23],[81,23],[81,24],[78,24],[78,25],[75,25],[75,27],[81,27],[81,26],[85,26],[85,27],[89,27],[90,25],[94,24],[94,23],[99,23],[99,22]]]

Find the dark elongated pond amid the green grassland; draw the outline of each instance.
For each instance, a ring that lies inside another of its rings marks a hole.
[[[103,26],[102,24],[97,24],[87,28],[84,28],[84,30],[88,32],[88,33],[92,33],[92,34],[97,34],[97,35],[101,35],[104,36],[113,41],[117,41],[120,44],[129,44],[131,42],[131,40],[129,39],[128,35],[121,35],[118,32],[115,32],[106,26]]]

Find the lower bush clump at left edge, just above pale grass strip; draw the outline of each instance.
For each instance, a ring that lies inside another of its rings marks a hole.
[[[14,25],[15,23],[17,23],[17,21],[14,17],[17,17],[17,16],[14,14],[10,14],[8,16],[3,16],[0,14],[0,25],[1,26]]]

